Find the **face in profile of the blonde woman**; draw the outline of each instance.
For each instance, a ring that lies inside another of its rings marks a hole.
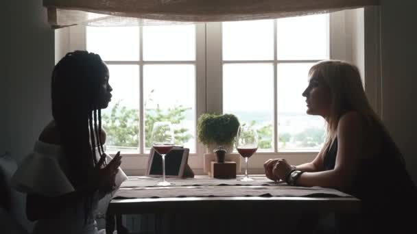
[[[309,79],[309,86],[302,92],[307,103],[307,114],[329,116],[331,94],[326,83],[316,74],[313,73]]]

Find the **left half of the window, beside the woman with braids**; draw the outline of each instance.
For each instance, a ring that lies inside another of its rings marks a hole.
[[[110,72],[108,151],[149,153],[153,123],[170,120],[176,143],[195,153],[195,25],[86,27],[86,49]]]

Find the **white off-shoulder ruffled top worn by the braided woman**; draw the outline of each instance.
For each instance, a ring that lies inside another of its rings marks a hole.
[[[98,150],[96,148],[97,155]],[[107,161],[112,158],[108,156]],[[67,178],[68,163],[64,157],[62,146],[36,141],[34,150],[23,159],[14,173],[11,184],[19,192],[26,194],[40,194],[43,196],[60,196],[73,192],[74,188]],[[116,186],[128,179],[119,168],[116,174]],[[62,234],[96,234],[95,210],[99,200],[98,193],[94,196],[93,212],[89,214],[84,225],[84,204],[64,209],[58,216],[45,220],[38,220],[33,233],[62,233]]]

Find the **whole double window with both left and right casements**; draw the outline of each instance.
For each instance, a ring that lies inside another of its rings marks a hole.
[[[190,148],[190,166],[201,172],[205,147],[196,138],[196,121],[214,112],[235,114],[257,127],[260,146],[250,172],[262,172],[267,158],[294,155],[304,162],[322,145],[324,121],[305,114],[301,93],[312,64],[344,59],[331,51],[346,47],[346,41],[331,39],[342,16],[71,27],[67,51],[87,49],[108,64],[113,97],[103,111],[107,151],[132,156],[128,171],[145,169],[145,157],[137,156],[149,153],[153,122],[171,120],[177,143]]]

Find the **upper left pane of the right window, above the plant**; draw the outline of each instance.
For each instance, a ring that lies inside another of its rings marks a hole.
[[[222,23],[223,60],[273,60],[274,21]]]

